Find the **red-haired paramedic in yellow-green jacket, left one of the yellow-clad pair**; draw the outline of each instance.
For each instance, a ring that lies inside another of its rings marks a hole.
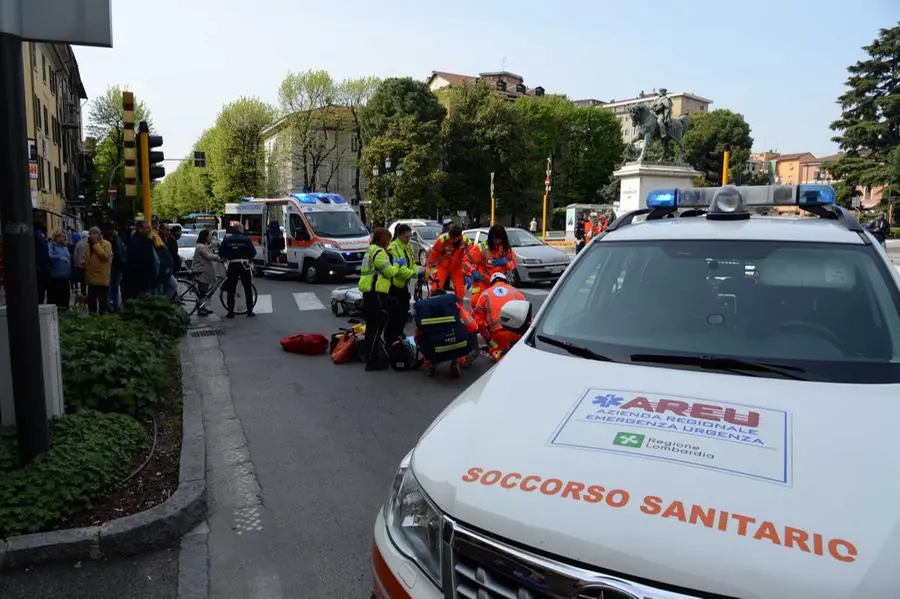
[[[388,254],[390,245],[391,232],[384,227],[375,229],[360,268],[359,290],[363,294],[363,317],[366,319],[366,370],[389,367],[384,330],[388,322],[391,279],[398,270]]]

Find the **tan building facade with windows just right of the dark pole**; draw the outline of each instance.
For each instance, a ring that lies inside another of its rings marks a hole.
[[[31,203],[52,233],[80,228],[86,154],[81,109],[87,100],[68,44],[23,42]]]

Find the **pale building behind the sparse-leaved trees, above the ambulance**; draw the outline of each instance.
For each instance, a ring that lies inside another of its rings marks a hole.
[[[359,211],[365,199],[356,194],[359,139],[349,117],[328,121],[308,134],[299,133],[288,119],[263,130],[269,187],[278,196],[297,191],[337,193]],[[360,171],[361,194],[365,194],[366,182],[366,173]]]

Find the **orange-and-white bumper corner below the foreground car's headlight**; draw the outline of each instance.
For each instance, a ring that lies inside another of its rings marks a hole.
[[[388,537],[384,513],[378,510],[372,542],[372,590],[377,599],[443,599],[418,567]]]

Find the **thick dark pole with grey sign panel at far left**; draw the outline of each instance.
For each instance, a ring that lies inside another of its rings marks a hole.
[[[110,0],[0,0],[0,227],[19,460],[50,446],[41,355],[23,41],[112,47]]]

